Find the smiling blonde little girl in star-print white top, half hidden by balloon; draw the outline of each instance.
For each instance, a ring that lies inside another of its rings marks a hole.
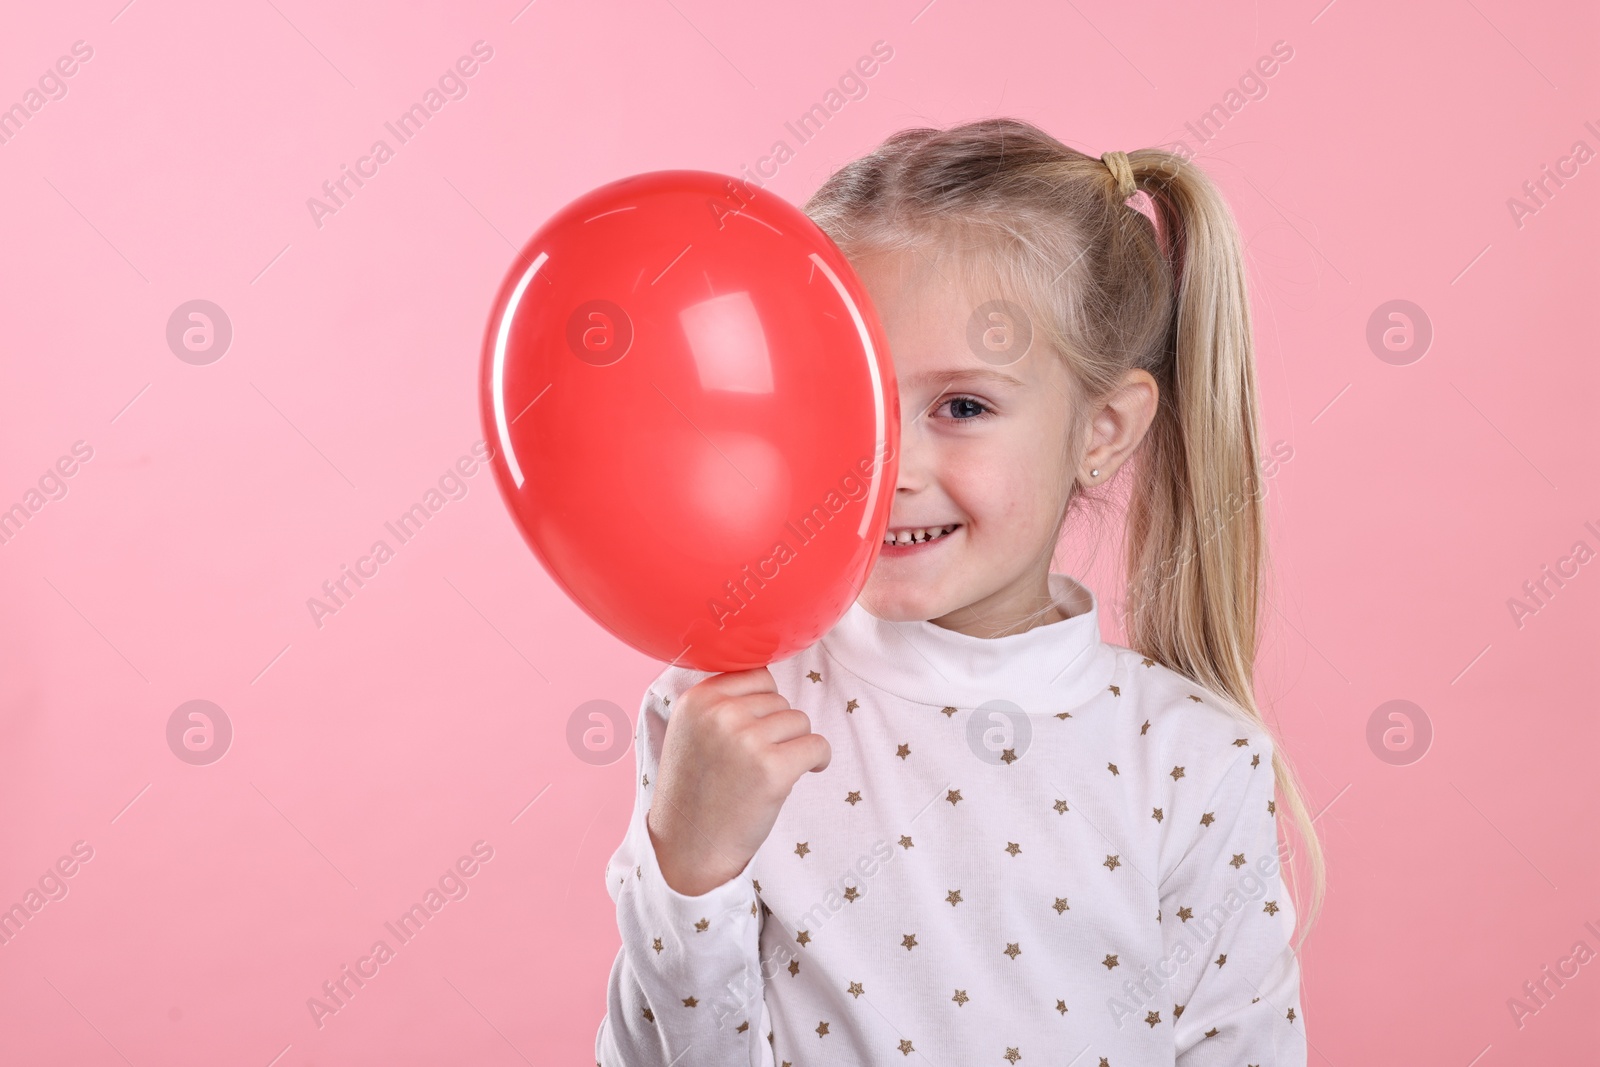
[[[890,531],[816,645],[645,694],[597,1062],[1304,1065],[1278,795],[1312,917],[1322,856],[1253,696],[1227,206],[1178,155],[986,120],[891,136],[806,213],[894,358]],[[1050,569],[1125,464],[1130,648]]]

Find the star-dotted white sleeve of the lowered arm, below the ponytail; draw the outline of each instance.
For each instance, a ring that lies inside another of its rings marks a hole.
[[[1272,741],[1237,733],[1248,736],[1227,745],[1232,761],[1162,883],[1160,973],[1170,976],[1176,1067],[1304,1067]]]

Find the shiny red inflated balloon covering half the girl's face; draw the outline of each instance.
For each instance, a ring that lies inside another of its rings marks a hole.
[[[781,197],[654,171],[562,208],[483,339],[494,480],[597,622],[696,670],[814,643],[877,561],[899,390],[843,253]]]

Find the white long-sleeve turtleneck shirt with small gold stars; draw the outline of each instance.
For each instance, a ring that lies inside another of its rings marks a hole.
[[[645,693],[606,865],[622,947],[602,1067],[1304,1067],[1269,734],[1070,617],[1000,638],[853,605],[770,664],[827,737],[746,870],[699,896],[645,829]]]

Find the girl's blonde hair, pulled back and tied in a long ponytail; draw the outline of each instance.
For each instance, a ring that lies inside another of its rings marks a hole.
[[[960,274],[970,293],[998,283],[1018,294],[1034,342],[1061,354],[1078,386],[1064,448],[1128,371],[1157,381],[1155,419],[1128,464],[1123,625],[1130,648],[1272,737],[1275,784],[1312,869],[1298,949],[1326,877],[1304,792],[1254,696],[1269,568],[1238,227],[1187,158],[1141,149],[1126,160],[1155,226],[1125,202],[1106,163],[1013,118],[891,134],[835,171],[805,211],[851,259],[954,251],[928,259]],[[1094,499],[1083,494],[1074,480],[1062,523],[1074,501]]]

